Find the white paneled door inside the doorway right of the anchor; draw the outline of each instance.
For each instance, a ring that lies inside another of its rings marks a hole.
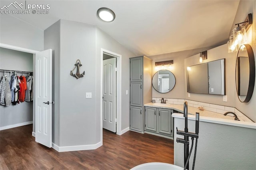
[[[103,128],[116,132],[116,57],[103,60]]]

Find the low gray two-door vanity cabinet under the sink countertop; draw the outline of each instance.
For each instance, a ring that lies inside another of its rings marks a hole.
[[[173,139],[172,109],[145,107],[145,132]]]

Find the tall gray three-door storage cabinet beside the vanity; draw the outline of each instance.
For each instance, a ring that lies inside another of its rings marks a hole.
[[[144,104],[152,101],[152,59],[130,58],[130,130],[144,132]]]

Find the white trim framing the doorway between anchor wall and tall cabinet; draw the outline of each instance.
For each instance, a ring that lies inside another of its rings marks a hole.
[[[122,135],[121,129],[121,111],[122,111],[122,55],[114,53],[112,51],[108,51],[106,49],[100,49],[100,141],[103,141],[103,110],[102,110],[102,97],[103,97],[103,53],[116,57],[117,59],[117,76],[116,76],[116,134]]]

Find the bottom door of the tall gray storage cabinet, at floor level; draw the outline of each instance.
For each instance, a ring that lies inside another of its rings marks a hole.
[[[130,107],[130,129],[142,132],[142,107]]]

